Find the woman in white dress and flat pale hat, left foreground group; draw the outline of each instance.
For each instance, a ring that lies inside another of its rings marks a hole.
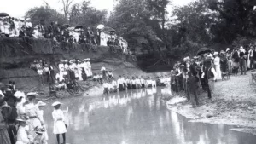
[[[33,131],[36,127],[41,126],[41,122],[38,118],[38,106],[35,105],[35,98],[38,96],[37,93],[28,93],[27,99],[28,104],[25,105],[26,117],[28,118],[27,124],[29,126],[29,135],[34,137],[36,133]]]

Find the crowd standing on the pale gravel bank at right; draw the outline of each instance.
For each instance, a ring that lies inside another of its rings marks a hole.
[[[177,61],[171,71],[171,87],[174,92],[184,91],[193,107],[199,105],[198,92],[201,88],[207,91],[208,98],[214,95],[214,83],[228,80],[230,75],[246,75],[247,70],[256,68],[256,49],[250,44],[233,50],[227,48],[219,53],[206,49],[204,53],[193,58],[185,57]]]

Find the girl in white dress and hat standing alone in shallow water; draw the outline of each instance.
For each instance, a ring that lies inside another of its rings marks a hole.
[[[57,142],[60,144],[60,134],[63,137],[63,144],[66,143],[66,132],[67,128],[64,123],[64,114],[61,111],[61,102],[56,101],[52,104],[53,107],[55,107],[55,110],[52,112],[52,117],[54,119],[54,127],[53,127],[53,133],[57,137]]]

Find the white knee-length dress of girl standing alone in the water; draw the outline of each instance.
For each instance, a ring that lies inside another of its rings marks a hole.
[[[52,112],[52,117],[54,119],[54,129],[53,133],[56,134],[64,134],[67,132],[65,123],[64,123],[64,114],[58,109]]]

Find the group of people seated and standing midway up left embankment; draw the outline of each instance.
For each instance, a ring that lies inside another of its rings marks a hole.
[[[90,59],[60,60],[57,70],[46,60],[34,60],[30,68],[38,72],[40,84],[49,84],[49,94],[56,91],[75,89],[78,81],[92,77]]]

